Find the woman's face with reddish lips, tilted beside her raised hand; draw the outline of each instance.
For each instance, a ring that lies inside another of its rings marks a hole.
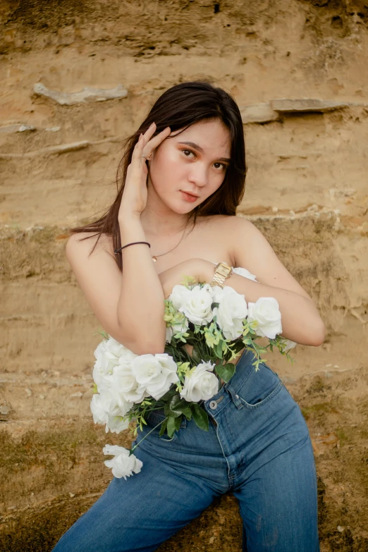
[[[219,119],[176,131],[152,154],[149,192],[172,211],[189,213],[221,186],[230,152],[230,133]]]

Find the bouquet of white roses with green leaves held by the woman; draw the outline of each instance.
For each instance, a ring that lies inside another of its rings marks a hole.
[[[234,271],[255,279],[246,269]],[[129,428],[136,436],[137,428],[142,430],[149,414],[158,409],[164,409],[166,415],[154,427],[161,425],[160,436],[165,431],[173,436],[183,416],[208,431],[208,415],[199,403],[216,395],[221,381],[230,381],[235,364],[229,361],[240,350],[254,352],[256,370],[262,362],[260,354],[274,346],[293,362],[288,350],[296,343],[279,335],[281,312],[275,298],[247,304],[244,295],[231,287],[211,287],[187,278],[183,285],[174,286],[165,300],[164,318],[164,353],[135,355],[106,335],[94,351],[96,393],[91,410],[94,422],[105,424],[106,432]],[[268,338],[269,343],[259,345],[258,338]],[[135,422],[135,427],[130,422]],[[140,472],[142,462],[132,454],[134,448],[104,447],[106,455],[114,455],[105,464],[112,467],[115,477]]]

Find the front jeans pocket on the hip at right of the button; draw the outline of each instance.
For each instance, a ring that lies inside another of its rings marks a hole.
[[[283,382],[276,372],[266,364],[259,364],[259,370],[256,372],[254,367],[236,393],[246,408],[254,409],[269,403],[282,388]]]

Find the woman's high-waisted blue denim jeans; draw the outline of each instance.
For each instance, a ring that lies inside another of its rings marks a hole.
[[[266,364],[243,352],[228,384],[202,402],[209,431],[183,420],[159,436],[158,410],[140,431],[140,473],[114,478],[68,529],[54,552],[150,552],[199,516],[214,497],[233,493],[245,552],[319,552],[317,478],[300,408]]]

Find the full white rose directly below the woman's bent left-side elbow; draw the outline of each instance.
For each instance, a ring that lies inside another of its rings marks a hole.
[[[173,357],[166,352],[157,355],[139,355],[132,362],[132,371],[149,395],[159,400],[179,380]]]

